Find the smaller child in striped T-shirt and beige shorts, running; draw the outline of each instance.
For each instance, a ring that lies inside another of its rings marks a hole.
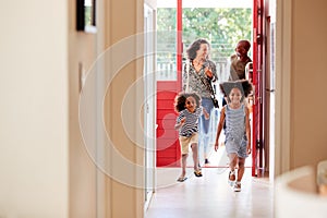
[[[174,109],[179,112],[174,129],[179,130],[179,141],[182,153],[182,173],[179,182],[184,182],[186,178],[186,158],[189,156],[189,147],[191,146],[194,174],[202,177],[198,169],[198,118],[204,113],[209,119],[209,113],[201,106],[201,97],[195,93],[181,93],[175,97]]]

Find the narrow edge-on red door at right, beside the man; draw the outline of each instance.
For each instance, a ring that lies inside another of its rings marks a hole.
[[[257,175],[263,162],[263,0],[253,1],[253,119],[252,175]]]

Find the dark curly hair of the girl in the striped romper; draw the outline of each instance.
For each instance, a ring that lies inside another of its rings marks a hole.
[[[239,88],[242,94],[241,101],[251,94],[252,84],[247,80],[230,81],[219,84],[220,90],[229,99],[229,94],[231,89]]]

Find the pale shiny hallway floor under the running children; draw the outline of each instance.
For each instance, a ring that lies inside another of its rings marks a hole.
[[[210,159],[217,160],[216,157]],[[226,167],[203,168],[204,177],[196,178],[190,167],[187,180],[177,182],[179,168],[158,169],[157,190],[145,211],[145,217],[272,218],[274,191],[269,179],[252,177],[251,168],[246,168],[242,191],[237,193],[227,182],[228,172],[229,169]]]

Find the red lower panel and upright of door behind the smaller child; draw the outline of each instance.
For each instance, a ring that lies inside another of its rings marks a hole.
[[[177,73],[174,81],[157,82],[157,167],[180,167],[180,144],[174,130],[174,97],[181,92],[182,80],[182,0],[177,0]]]

